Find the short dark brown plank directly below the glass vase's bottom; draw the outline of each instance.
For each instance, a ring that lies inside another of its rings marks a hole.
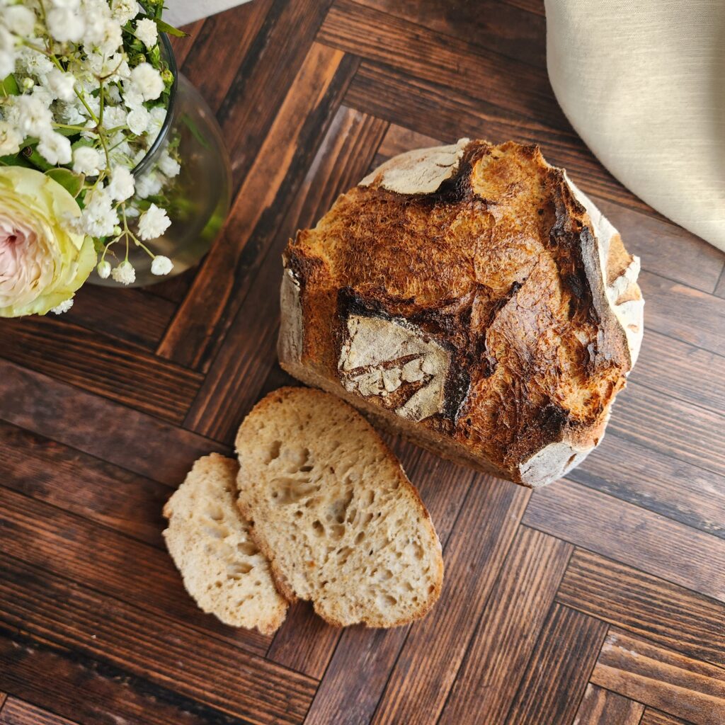
[[[145,349],[155,349],[174,310],[175,305],[147,290],[86,284],[61,319]]]

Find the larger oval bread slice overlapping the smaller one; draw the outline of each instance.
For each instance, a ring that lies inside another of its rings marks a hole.
[[[239,507],[290,601],[335,626],[406,624],[438,599],[441,544],[362,415],[309,388],[262,399],[236,437]]]

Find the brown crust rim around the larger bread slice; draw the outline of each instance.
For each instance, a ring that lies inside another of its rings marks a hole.
[[[239,476],[237,479],[241,495],[237,499],[237,506],[239,507],[239,510],[241,511],[241,514],[244,516],[244,518],[246,518],[250,522],[250,537],[252,537],[252,540],[255,542],[255,544],[257,544],[257,547],[260,548],[260,551],[269,560],[270,571],[272,573],[272,577],[278,592],[280,592],[280,594],[288,602],[294,603],[297,602],[299,597],[297,597],[297,594],[294,592],[293,587],[291,587],[291,584],[289,584],[289,581],[287,581],[283,571],[278,565],[277,552],[268,545],[265,537],[260,535],[260,531],[258,531],[257,526],[254,525],[254,509],[248,505],[248,502],[243,493],[244,487],[247,484],[247,471],[245,471],[244,468],[244,456],[241,454],[241,451],[244,450],[245,425],[249,424],[247,423],[247,421],[253,418],[262,420],[273,418],[273,416],[276,414],[274,409],[278,407],[280,403],[284,402],[286,399],[290,399],[291,397],[304,397],[305,407],[308,407],[310,410],[315,410],[318,407],[325,407],[326,405],[330,405],[330,399],[328,394],[321,392],[318,389],[296,388],[291,386],[279,388],[276,391],[268,394],[262,400],[260,400],[260,402],[258,402],[257,405],[252,408],[247,418],[245,418],[245,421],[241,424],[236,436],[236,450],[239,452],[239,463],[241,464]],[[339,403],[339,405],[343,404]],[[366,421],[365,418],[360,415],[360,413],[357,413],[356,410],[350,410],[350,413],[352,417],[357,418],[357,420],[363,423],[364,426],[370,428],[368,421]],[[368,615],[365,616],[365,618],[363,618],[359,623],[367,627],[402,626],[405,624],[410,624],[411,621],[425,616],[428,611],[433,608],[436,601],[440,597],[443,587],[444,574],[442,548],[438,539],[438,534],[436,534],[436,529],[433,520],[431,519],[431,515],[430,513],[428,513],[426,505],[423,503],[423,500],[418,493],[418,489],[416,489],[415,486],[410,483],[407,476],[405,475],[405,471],[403,471],[402,466],[399,463],[399,460],[397,460],[397,457],[395,457],[394,453],[392,452],[392,450],[390,450],[384,440],[381,439],[380,436],[378,436],[377,432],[374,431],[372,428],[370,428],[370,434],[376,438],[375,445],[380,450],[381,455],[384,455],[384,457],[386,457],[389,462],[392,463],[392,467],[397,473],[397,479],[400,486],[406,489],[410,496],[410,501],[413,503],[413,506],[421,515],[421,524],[425,527],[427,537],[430,539],[431,546],[434,547],[434,552],[436,554],[436,574],[433,582],[434,589],[432,592],[428,593],[428,598],[426,599],[426,601],[421,602],[421,605],[415,612],[415,616],[400,618],[397,621],[384,621],[382,619],[377,619],[373,614],[368,613]],[[316,602],[315,600],[312,600],[312,605],[315,608],[315,612],[318,613],[320,617],[322,617],[328,624],[331,624],[332,626],[343,627],[351,624],[349,622],[339,621],[338,619],[331,617],[328,612],[321,610],[318,607],[318,602]]]

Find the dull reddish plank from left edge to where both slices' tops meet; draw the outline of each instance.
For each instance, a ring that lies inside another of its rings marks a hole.
[[[191,431],[2,360],[0,419],[171,486],[200,456],[228,452]]]

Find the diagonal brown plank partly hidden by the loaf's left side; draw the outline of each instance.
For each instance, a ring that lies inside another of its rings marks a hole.
[[[285,218],[278,228],[268,225],[255,234],[255,244],[270,246],[270,251],[260,273],[249,279],[249,294],[188,413],[188,428],[222,441],[233,439],[276,363],[283,249],[298,228],[313,225],[341,191],[363,177],[385,128],[374,117],[339,109]]]

